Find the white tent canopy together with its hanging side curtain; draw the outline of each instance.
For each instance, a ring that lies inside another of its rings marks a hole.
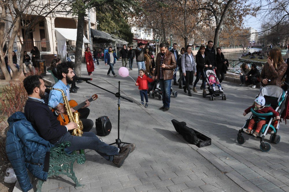
[[[66,41],[76,41],[77,29],[54,28],[54,30],[57,40],[57,53],[61,60],[66,60]],[[83,43],[90,43],[84,35]]]

